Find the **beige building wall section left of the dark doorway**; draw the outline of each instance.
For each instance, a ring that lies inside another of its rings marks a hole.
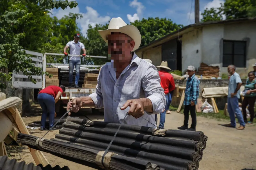
[[[155,65],[155,66],[158,66],[161,64],[162,62],[162,46],[157,46],[155,48],[151,48],[145,52],[143,52],[143,54],[141,52],[138,52],[139,53],[139,57],[142,58],[143,56],[143,59],[145,58],[148,58],[152,61],[152,64]]]

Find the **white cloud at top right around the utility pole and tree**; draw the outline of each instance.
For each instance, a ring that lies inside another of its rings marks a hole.
[[[225,1],[223,1],[223,0],[213,0],[213,1],[211,1],[211,2],[208,2],[205,6],[204,6],[204,10],[206,9],[206,8],[208,8],[208,9],[210,9],[210,8],[218,8],[218,7],[220,7],[221,5],[221,3],[224,3]],[[203,18],[203,16],[201,15],[201,11],[199,12],[199,20],[201,20],[202,18]],[[222,15],[222,17],[223,17],[223,19],[225,19],[225,15]],[[195,12],[191,12],[191,14],[190,13],[187,13],[187,18],[188,18],[188,21],[190,22],[190,24],[193,24],[193,23],[195,23]]]

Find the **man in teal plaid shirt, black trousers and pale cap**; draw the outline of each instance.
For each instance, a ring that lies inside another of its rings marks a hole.
[[[195,67],[188,66],[187,72],[189,78],[187,80],[186,90],[185,90],[185,99],[184,99],[184,124],[181,127],[178,127],[180,130],[196,130],[196,103],[197,98],[199,96],[199,83],[200,81],[195,76]],[[188,128],[188,118],[189,118],[189,111],[192,119],[191,127]]]

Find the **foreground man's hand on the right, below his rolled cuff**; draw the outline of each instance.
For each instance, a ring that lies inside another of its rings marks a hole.
[[[128,112],[128,115],[132,115],[136,119],[143,116],[144,114],[144,105],[143,102],[140,99],[132,99],[127,100],[123,107],[121,107],[121,110],[126,109],[128,106],[130,106],[130,110]]]

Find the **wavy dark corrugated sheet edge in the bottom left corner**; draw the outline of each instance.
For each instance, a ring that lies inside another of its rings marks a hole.
[[[42,164],[35,166],[33,163],[26,164],[25,161],[17,162],[16,159],[9,159],[7,156],[0,156],[0,170],[69,170],[68,166],[59,165],[52,167]]]

